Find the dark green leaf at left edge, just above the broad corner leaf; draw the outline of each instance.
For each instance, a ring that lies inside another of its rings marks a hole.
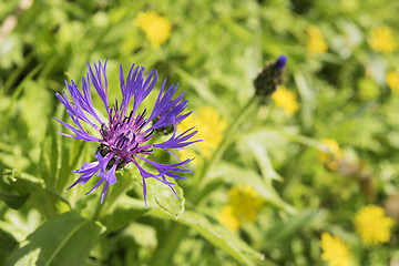
[[[1,187],[19,196],[29,195],[29,203],[48,218],[70,211],[69,203],[45,186],[44,181],[17,171],[6,170],[0,180]]]

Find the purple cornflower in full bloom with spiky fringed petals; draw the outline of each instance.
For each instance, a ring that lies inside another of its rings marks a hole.
[[[71,80],[71,84],[65,81],[72,102],[66,98],[65,92],[63,92],[62,95],[55,93],[74,123],[74,125],[70,125],[55,117],[57,121],[73,132],[74,135],[59,133],[68,137],[82,141],[94,141],[100,144],[95,154],[98,161],[93,163],[83,163],[82,168],[74,170],[73,172],[81,174],[81,176],[69,188],[76,184],[85,184],[96,173],[101,180],[86,194],[92,193],[105,182],[100,202],[102,203],[109,185],[116,183],[115,171],[124,167],[129,163],[133,163],[143,178],[145,203],[145,180],[150,177],[156,178],[167,185],[177,197],[176,192],[172,187],[174,183],[167,181],[166,176],[184,180],[183,176],[180,176],[174,172],[191,172],[186,165],[193,158],[181,162],[171,150],[182,150],[184,146],[196,142],[190,141],[190,139],[197,132],[193,131],[193,127],[182,134],[176,134],[176,123],[191,114],[191,112],[182,114],[187,105],[187,101],[183,101],[184,92],[173,99],[178,84],[172,84],[165,91],[165,79],[155,101],[155,105],[151,114],[147,115],[146,109],[144,108],[140,112],[139,106],[154,89],[157,80],[157,71],[154,72],[154,70],[152,70],[144,75],[144,68],[135,66],[133,64],[129,71],[127,79],[125,80],[122,65],[120,65],[122,101],[119,103],[116,99],[115,105],[110,108],[105,68],[106,61],[104,65],[102,65],[100,61],[99,64],[94,63],[94,71],[88,63],[89,72],[86,73],[86,78],[82,76],[83,93],[73,80]],[[93,108],[90,94],[90,83],[92,83],[105,105],[108,121],[103,121]],[[130,110],[131,100],[133,102],[132,110]],[[83,129],[81,122],[92,126],[98,134],[89,134],[88,131]],[[153,137],[154,131],[162,130],[166,126],[174,127],[171,137],[165,142],[151,144],[150,140]],[[152,152],[154,149],[162,149],[168,152],[178,161],[178,163],[162,164],[151,161],[149,155],[153,155]],[[151,164],[156,173],[144,170],[137,160]]]

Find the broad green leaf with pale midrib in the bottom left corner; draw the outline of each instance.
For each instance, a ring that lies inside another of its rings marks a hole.
[[[100,223],[74,212],[65,213],[29,235],[7,259],[7,265],[84,265],[102,229]]]

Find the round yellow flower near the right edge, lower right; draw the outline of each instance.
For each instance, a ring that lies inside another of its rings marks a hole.
[[[386,243],[390,238],[393,219],[385,216],[383,208],[376,205],[362,207],[354,218],[356,232],[365,244]]]

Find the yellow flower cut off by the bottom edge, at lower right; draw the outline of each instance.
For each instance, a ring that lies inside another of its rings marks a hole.
[[[323,233],[320,246],[323,249],[321,259],[328,260],[329,266],[349,266],[350,254],[347,245],[328,233]]]

